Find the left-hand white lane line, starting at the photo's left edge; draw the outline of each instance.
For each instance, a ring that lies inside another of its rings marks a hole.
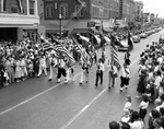
[[[81,74],[81,72],[79,72],[79,73],[75,74],[74,77],[77,78],[77,77],[80,75],[80,74]],[[63,84],[63,83],[65,83],[65,81],[62,81],[62,82],[60,82],[60,83],[54,85],[52,87],[47,89],[47,90],[44,91],[44,92],[40,92],[40,93],[36,94],[36,95],[33,96],[33,97],[30,97],[30,98],[26,99],[26,101],[23,101],[23,102],[19,103],[17,105],[15,105],[15,106],[13,106],[13,107],[11,107],[11,108],[8,108],[8,109],[1,112],[1,113],[0,113],[0,116],[3,115],[3,114],[5,114],[5,113],[11,112],[12,109],[15,109],[16,107],[22,106],[23,104],[26,104],[26,103],[30,102],[30,101],[33,101],[34,98],[36,98],[36,97],[38,97],[38,96],[40,96],[40,95],[43,95],[43,94],[45,94],[45,93],[47,93],[47,92],[49,92],[49,91],[56,89],[56,87],[58,87],[60,84]]]

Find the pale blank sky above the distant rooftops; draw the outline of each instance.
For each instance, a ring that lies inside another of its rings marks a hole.
[[[159,14],[159,17],[164,17],[164,0],[136,0],[143,2],[143,12]]]

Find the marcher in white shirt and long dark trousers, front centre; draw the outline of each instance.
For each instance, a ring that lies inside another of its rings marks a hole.
[[[97,64],[97,71],[96,71],[96,81],[95,81],[95,86],[97,87],[98,80],[101,80],[101,84],[103,84],[103,72],[105,71],[104,63],[102,59],[98,60]]]

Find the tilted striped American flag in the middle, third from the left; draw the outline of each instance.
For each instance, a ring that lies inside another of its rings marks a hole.
[[[87,62],[87,52],[82,48],[82,46],[79,45],[78,40],[74,37],[72,37],[72,40],[75,44],[73,46],[73,49],[80,52],[83,62]]]

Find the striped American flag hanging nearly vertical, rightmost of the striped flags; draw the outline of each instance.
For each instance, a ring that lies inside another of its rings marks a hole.
[[[114,44],[114,38],[112,37],[112,42],[110,42],[110,64],[115,64],[117,67],[118,70],[120,70],[121,66],[119,63],[118,60],[118,55],[117,55],[117,48]]]

